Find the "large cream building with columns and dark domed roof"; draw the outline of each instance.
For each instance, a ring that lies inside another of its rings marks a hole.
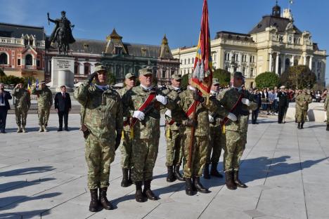
[[[273,6],[271,15],[264,15],[248,34],[217,32],[211,41],[214,68],[233,73],[243,72],[246,86],[254,87],[254,79],[263,72],[282,74],[294,65],[307,65],[319,84],[325,84],[326,51],[318,48],[311,33],[300,31],[290,9]],[[172,50],[181,61],[181,74],[193,72],[196,46]]]

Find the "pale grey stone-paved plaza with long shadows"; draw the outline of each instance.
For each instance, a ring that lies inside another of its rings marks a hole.
[[[120,187],[117,150],[108,192],[116,209],[91,213],[79,114],[70,115],[71,131],[60,133],[56,114],[51,114],[49,133],[38,133],[37,114],[29,114],[29,133],[20,134],[10,114],[8,133],[0,135],[0,218],[328,218],[325,124],[309,122],[297,130],[293,121],[259,120],[259,125],[249,126],[241,164],[247,189],[231,191],[224,179],[202,178],[212,192],[188,197],[184,183],[167,183],[162,121],[152,183],[160,200],[137,203],[134,186]],[[222,162],[219,168],[222,171]]]

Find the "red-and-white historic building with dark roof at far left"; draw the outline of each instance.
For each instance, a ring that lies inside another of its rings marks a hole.
[[[6,75],[44,80],[44,27],[0,23],[0,67]]]

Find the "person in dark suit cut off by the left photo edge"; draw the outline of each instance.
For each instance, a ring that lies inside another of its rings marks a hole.
[[[0,131],[6,133],[6,119],[8,110],[11,110],[9,101],[11,100],[11,93],[4,90],[4,84],[0,84]]]

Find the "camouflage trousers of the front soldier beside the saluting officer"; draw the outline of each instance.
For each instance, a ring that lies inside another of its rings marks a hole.
[[[131,180],[134,182],[153,179],[153,168],[157,160],[159,137],[132,140]]]

